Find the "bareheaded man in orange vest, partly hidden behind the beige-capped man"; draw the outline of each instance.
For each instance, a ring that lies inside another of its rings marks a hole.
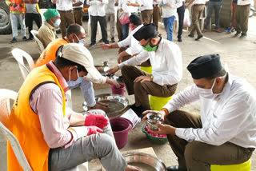
[[[66,45],[70,42],[80,43],[83,45],[85,43],[85,38],[86,31],[82,28],[82,26],[79,26],[78,24],[71,24],[66,30],[66,38],[58,38],[53,42],[50,42],[49,46],[46,47],[46,50],[44,50],[41,56],[38,58],[38,61],[35,63],[34,67],[46,65],[46,63],[50,62],[50,60],[54,61],[56,58],[56,52],[60,46]],[[78,80],[70,81],[68,83],[70,89],[74,89],[78,86],[80,87],[83,97],[85,98],[86,104],[88,105],[89,109],[102,109],[105,112],[109,112],[110,109],[108,108],[108,105],[95,101],[92,82],[106,82],[110,85],[118,85],[118,83],[114,80],[105,77],[98,77],[97,80],[90,79],[87,77],[80,77],[78,78]]]

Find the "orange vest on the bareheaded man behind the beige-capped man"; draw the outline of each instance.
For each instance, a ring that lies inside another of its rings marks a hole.
[[[68,43],[70,42],[67,40],[67,38],[57,38],[53,42],[50,42],[46,49],[43,50],[34,67],[43,66],[50,61],[54,61],[58,48]]]

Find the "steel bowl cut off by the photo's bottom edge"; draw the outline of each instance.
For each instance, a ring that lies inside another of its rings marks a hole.
[[[148,153],[130,152],[122,155],[128,165],[141,167],[146,171],[166,171],[166,165],[157,157]],[[145,168],[144,168],[145,167]]]

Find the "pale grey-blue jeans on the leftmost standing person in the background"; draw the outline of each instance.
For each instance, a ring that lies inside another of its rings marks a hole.
[[[18,38],[18,23],[21,25],[22,38],[26,36],[25,14],[10,13],[11,29],[13,30],[13,38]]]

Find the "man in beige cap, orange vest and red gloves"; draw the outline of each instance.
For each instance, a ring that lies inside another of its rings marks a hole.
[[[74,54],[74,55],[70,55]],[[127,165],[114,142],[102,110],[68,113],[67,82],[91,73],[88,50],[70,43],[58,50],[55,61],[30,72],[10,113],[9,129],[18,138],[32,170],[67,170],[99,158],[108,171],[140,170]],[[8,169],[22,170],[10,144]]]

